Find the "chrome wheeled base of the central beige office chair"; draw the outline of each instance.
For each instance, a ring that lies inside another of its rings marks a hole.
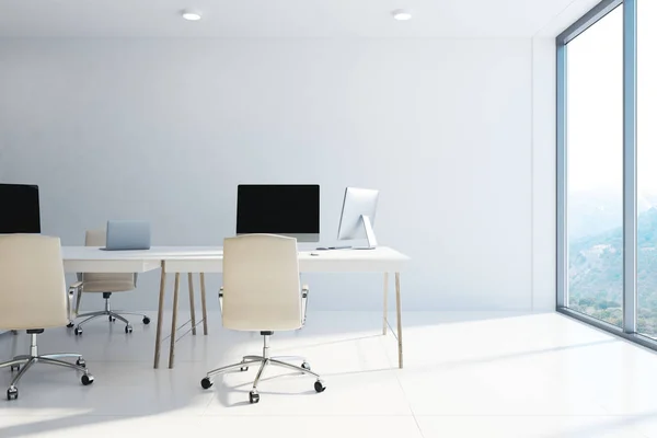
[[[299,361],[301,361],[302,364],[301,364],[301,366],[297,366],[297,365],[293,365],[290,362],[283,361],[281,359],[288,359],[288,360],[299,359]],[[221,367],[221,368],[217,368],[211,371],[208,371],[207,376],[201,379],[200,385],[203,387],[203,389],[207,390],[208,388],[210,388],[212,385],[212,378],[215,376],[221,374],[224,372],[229,372],[229,371],[235,371],[235,370],[247,371],[249,367],[255,366],[255,365],[258,366],[258,370],[257,370],[257,373],[255,374],[255,380],[253,381],[253,388],[252,388],[251,392],[249,393],[249,402],[250,403],[260,402],[260,393],[257,392],[257,384],[260,383],[260,381],[263,377],[263,372],[265,371],[265,368],[267,368],[268,366],[285,368],[288,370],[301,372],[302,374],[313,376],[316,378],[316,381],[314,383],[314,390],[316,392],[324,392],[324,390],[326,389],[326,385],[320,378],[320,374],[318,374],[314,371],[311,371],[310,365],[306,361],[304,358],[296,357],[296,356],[270,357],[269,356],[269,335],[264,335],[264,346],[263,346],[263,355],[262,356],[244,356],[242,358],[241,362],[227,365],[226,367]]]

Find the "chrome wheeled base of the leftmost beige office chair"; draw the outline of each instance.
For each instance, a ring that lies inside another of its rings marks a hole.
[[[0,368],[10,367],[11,371],[19,371],[9,384],[7,390],[7,400],[15,400],[19,397],[19,389],[16,384],[25,376],[27,370],[35,364],[44,365],[56,365],[58,367],[65,367],[74,369],[76,371],[82,372],[82,384],[88,385],[93,383],[93,376],[87,369],[87,362],[82,358],[82,355],[77,353],[57,353],[51,355],[38,355],[36,345],[36,334],[31,335],[30,355],[15,356],[12,360],[0,364]],[[76,358],[76,364],[67,362],[61,360],[62,358]]]

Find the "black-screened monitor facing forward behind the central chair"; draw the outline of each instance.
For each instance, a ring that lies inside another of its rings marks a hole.
[[[320,240],[319,185],[238,186],[238,234],[281,234]]]

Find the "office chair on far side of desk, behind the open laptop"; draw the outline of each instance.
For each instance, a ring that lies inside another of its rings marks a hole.
[[[102,230],[90,230],[87,231],[84,245],[85,246],[105,246],[105,238],[106,232],[104,229]],[[87,318],[84,321],[78,323],[76,325],[74,333],[76,335],[82,334],[82,324],[93,320],[99,316],[107,316],[111,322],[115,322],[116,320],[123,321],[126,323],[125,332],[132,333],[132,325],[130,322],[126,320],[122,315],[131,314],[142,316],[142,322],[145,324],[150,323],[150,318],[142,313],[135,312],[124,312],[123,310],[111,310],[110,309],[110,297],[112,297],[113,292],[127,292],[134,290],[137,287],[137,274],[78,274],[78,281],[72,287],[77,290],[77,302],[76,302],[76,318]],[[105,299],[105,309],[99,310],[96,312],[88,312],[83,314],[78,314],[80,310],[80,300],[82,299],[83,293],[103,293],[103,298]],[[73,326],[73,324],[69,324],[69,327]]]

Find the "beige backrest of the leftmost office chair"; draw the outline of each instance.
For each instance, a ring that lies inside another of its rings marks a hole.
[[[0,235],[0,327],[62,326],[68,306],[59,238]]]

